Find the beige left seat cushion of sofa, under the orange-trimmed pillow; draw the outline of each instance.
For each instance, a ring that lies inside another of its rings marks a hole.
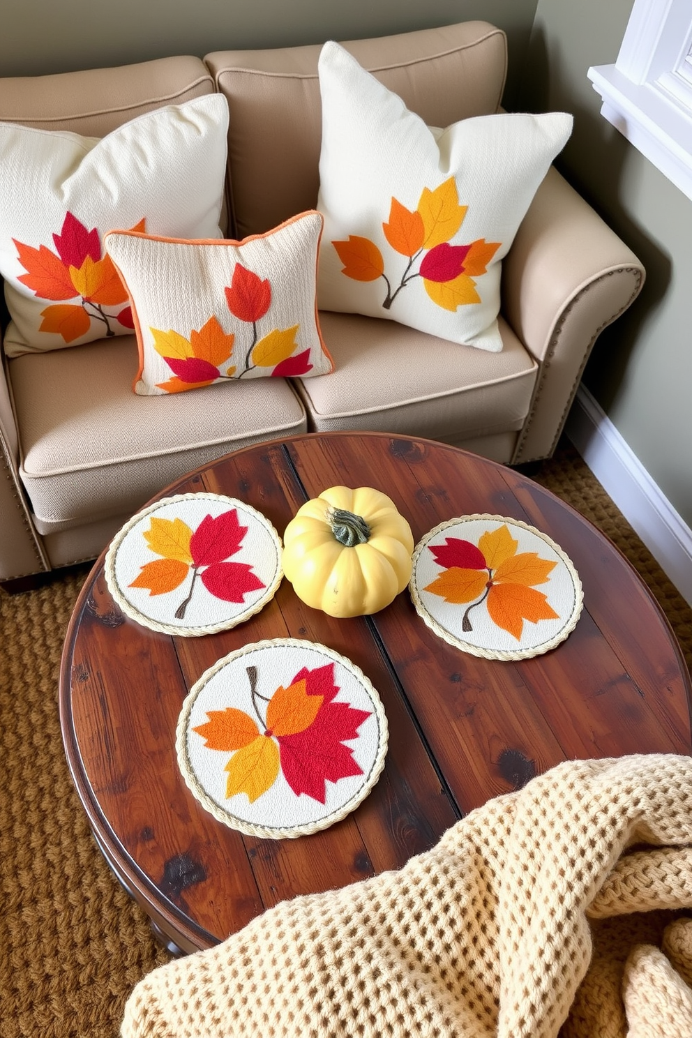
[[[39,532],[134,511],[197,465],[306,430],[283,379],[136,397],[134,335],[25,354],[8,368],[20,472]]]

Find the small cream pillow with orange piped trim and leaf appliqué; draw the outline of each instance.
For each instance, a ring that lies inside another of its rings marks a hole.
[[[109,231],[137,332],[135,392],[333,371],[315,306],[322,226],[310,210],[242,242]]]

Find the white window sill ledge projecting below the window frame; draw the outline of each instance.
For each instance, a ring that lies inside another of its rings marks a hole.
[[[692,199],[692,115],[661,87],[634,83],[615,65],[588,70],[601,114]],[[682,142],[685,143],[682,143]]]

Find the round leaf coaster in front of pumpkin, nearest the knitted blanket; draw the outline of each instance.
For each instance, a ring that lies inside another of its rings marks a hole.
[[[363,672],[326,646],[255,641],[218,660],[183,704],[183,776],[215,818],[250,836],[325,829],[375,786],[387,718]]]

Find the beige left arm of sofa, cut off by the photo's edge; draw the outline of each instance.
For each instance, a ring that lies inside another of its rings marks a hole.
[[[0,582],[50,570],[18,471],[19,441],[0,364]]]

